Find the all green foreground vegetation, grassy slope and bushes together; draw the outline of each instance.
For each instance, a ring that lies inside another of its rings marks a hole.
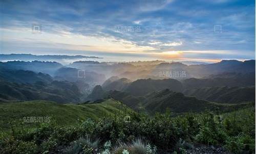
[[[0,153],[185,153],[193,147],[188,145],[196,144],[222,146],[234,153],[255,152],[254,107],[221,114],[185,113],[177,117],[170,112],[150,117],[125,108],[131,115],[131,122],[125,122],[123,105],[112,99],[83,105],[24,102],[16,109],[15,105],[1,104],[1,110],[5,111],[5,114],[1,111],[1,119],[36,113],[52,114],[55,121],[33,128],[16,126],[2,132]],[[91,116],[93,113],[97,116]],[[72,126],[68,121],[72,121]]]

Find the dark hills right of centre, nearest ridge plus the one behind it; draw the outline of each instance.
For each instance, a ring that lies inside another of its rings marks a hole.
[[[186,90],[185,93],[187,95],[184,95],[181,92],[164,89],[150,92],[146,95],[134,95],[126,91],[104,91],[98,85],[89,95],[88,100],[95,101],[110,97],[124,103],[133,110],[145,111],[150,114],[155,112],[163,113],[166,109],[174,113],[202,112],[216,109],[229,110],[248,104],[253,105],[255,100],[253,98],[253,88],[251,88],[226,87],[222,90],[220,88],[219,90],[218,88],[210,88],[212,90],[208,91],[208,94],[212,94],[212,96],[210,95],[209,100],[206,100],[200,96],[207,95],[207,90],[204,91],[205,93],[200,92],[200,90]],[[217,89],[215,93],[214,89]]]

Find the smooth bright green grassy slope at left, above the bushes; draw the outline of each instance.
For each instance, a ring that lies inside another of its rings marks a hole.
[[[57,104],[48,101],[29,101],[0,104],[0,131],[9,129],[12,124],[20,124],[24,117],[51,117],[51,120],[64,126],[77,124],[86,118],[98,119],[105,115],[114,115],[122,111],[129,114],[132,109],[120,102],[108,99],[97,104]],[[25,123],[26,126],[35,125]],[[38,124],[38,123],[36,123]]]

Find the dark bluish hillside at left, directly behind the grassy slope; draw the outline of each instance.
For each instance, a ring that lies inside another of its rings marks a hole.
[[[67,81],[12,83],[0,81],[0,101],[46,100],[57,103],[78,103],[82,94],[76,83]]]

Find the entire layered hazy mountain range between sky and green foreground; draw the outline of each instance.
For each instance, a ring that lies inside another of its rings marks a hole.
[[[170,79],[155,74],[167,70],[179,70],[187,76]],[[109,75],[105,72],[113,75],[106,79]],[[0,63],[2,102],[47,100],[90,104],[107,98],[150,114],[166,109],[175,113],[200,112],[255,103],[255,61],[200,65],[161,61],[78,61],[67,66],[40,61]]]

